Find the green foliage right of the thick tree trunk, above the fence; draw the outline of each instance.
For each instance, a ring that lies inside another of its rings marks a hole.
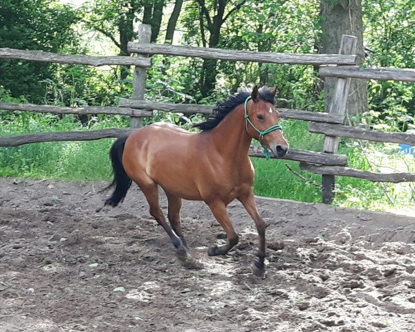
[[[364,9],[367,66],[415,68],[413,1],[365,1]],[[368,89],[374,122],[403,131],[414,123],[414,84],[369,80]]]

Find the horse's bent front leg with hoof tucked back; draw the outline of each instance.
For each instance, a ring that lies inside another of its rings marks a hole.
[[[213,201],[208,203],[212,214],[216,218],[216,220],[221,224],[223,230],[226,232],[226,236],[228,237],[228,242],[225,246],[217,246],[214,245],[208,249],[208,255],[216,256],[216,255],[226,255],[229,250],[231,250],[235,245],[237,245],[239,241],[238,234],[235,232],[232,222],[230,221],[228,211],[226,211],[226,205],[223,201]]]

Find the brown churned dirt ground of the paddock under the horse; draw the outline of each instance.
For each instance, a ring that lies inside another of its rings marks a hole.
[[[0,331],[415,331],[415,218],[258,198],[261,279],[239,203],[226,257],[207,255],[225,241],[208,208],[184,203],[190,270],[136,187],[117,208],[102,187],[0,178]]]

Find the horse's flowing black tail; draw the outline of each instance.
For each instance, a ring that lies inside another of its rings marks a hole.
[[[114,190],[111,197],[105,201],[105,205],[111,205],[112,207],[117,206],[118,203],[124,201],[124,197],[127,195],[127,191],[131,186],[131,179],[125,172],[124,166],[122,166],[122,153],[124,152],[124,145],[127,137],[128,136],[123,136],[118,138],[109,150],[109,157],[111,158],[111,163],[113,165],[114,179],[108,187],[104,188],[104,190],[114,186],[116,187],[116,190]]]

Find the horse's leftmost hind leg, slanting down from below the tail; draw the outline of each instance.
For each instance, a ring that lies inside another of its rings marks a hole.
[[[170,239],[174,247],[177,249],[179,255],[187,255],[187,249],[183,245],[182,240],[177,234],[172,230],[169,224],[166,222],[163,211],[160,209],[158,204],[158,185],[155,182],[148,183],[146,185],[139,185],[142,193],[145,194],[145,198],[150,205],[150,214],[156,219],[159,225],[163,226],[167,234],[169,234]]]

